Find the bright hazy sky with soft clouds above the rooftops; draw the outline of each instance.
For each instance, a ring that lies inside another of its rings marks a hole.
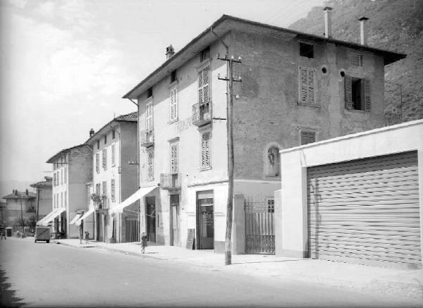
[[[288,27],[322,0],[0,0],[0,181],[136,111],[124,94],[223,14]],[[323,23],[323,13],[322,13]]]

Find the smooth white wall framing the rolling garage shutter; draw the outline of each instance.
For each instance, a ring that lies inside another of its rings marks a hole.
[[[281,197],[275,209],[276,254],[288,257],[307,254],[307,167],[415,150],[423,217],[423,120],[281,151]],[[422,219],[420,228],[422,233]]]

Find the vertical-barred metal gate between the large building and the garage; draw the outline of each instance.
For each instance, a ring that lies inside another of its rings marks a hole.
[[[245,209],[245,253],[274,254],[274,199],[269,197],[249,197],[244,202]]]

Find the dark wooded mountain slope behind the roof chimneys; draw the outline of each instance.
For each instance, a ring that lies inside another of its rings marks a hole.
[[[358,18],[365,16],[369,18],[369,46],[407,54],[405,59],[385,66],[385,112],[387,116],[400,113],[402,96],[403,121],[423,118],[423,1],[333,0],[328,6],[333,8],[333,38],[358,43]],[[322,8],[312,8],[290,29],[323,35]]]

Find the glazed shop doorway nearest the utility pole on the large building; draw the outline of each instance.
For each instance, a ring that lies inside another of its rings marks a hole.
[[[197,247],[214,249],[214,195],[212,190],[197,192]]]

